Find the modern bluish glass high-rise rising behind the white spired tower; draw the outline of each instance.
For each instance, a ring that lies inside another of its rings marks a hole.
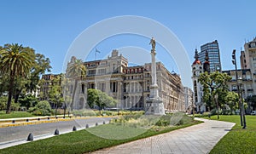
[[[207,53],[209,58],[208,60],[210,62],[210,71],[221,71],[220,54],[217,40],[201,46],[201,52],[198,53],[198,60],[200,60],[202,64],[206,61],[205,58]]]

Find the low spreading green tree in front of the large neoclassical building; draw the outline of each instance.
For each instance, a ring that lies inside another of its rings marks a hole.
[[[90,108],[97,106],[99,111],[102,111],[105,107],[115,106],[117,100],[114,100],[113,97],[108,96],[108,94],[103,93],[101,90],[89,88],[87,90],[87,103]]]

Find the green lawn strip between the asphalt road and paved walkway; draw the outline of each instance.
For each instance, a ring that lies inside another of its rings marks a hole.
[[[155,134],[163,134],[177,128],[184,128],[197,123],[201,122],[194,121],[189,124],[162,129],[151,128],[146,131],[145,129],[143,130],[143,128],[129,128],[127,126],[110,123],[95,128],[87,128],[68,134],[61,134],[45,140],[32,141],[24,145],[16,145],[2,149],[0,153],[85,153],[123,144],[131,140],[146,138]],[[125,135],[127,135],[127,138],[119,140],[119,136]]]

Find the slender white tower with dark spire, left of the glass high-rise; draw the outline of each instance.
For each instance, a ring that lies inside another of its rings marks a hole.
[[[199,55],[198,51],[195,48],[195,61],[192,64],[192,82],[193,82],[193,88],[194,88],[194,101],[195,101],[195,111],[206,111],[206,106],[203,103],[202,97],[203,97],[203,87],[201,83],[198,81],[198,78],[201,73],[205,71],[203,66],[207,66],[207,61],[204,63],[204,65],[201,64],[201,61],[198,60]],[[206,60],[207,60],[206,56]],[[209,64],[209,62],[208,62]],[[207,70],[206,70],[207,71]],[[208,70],[209,71],[209,70]]]

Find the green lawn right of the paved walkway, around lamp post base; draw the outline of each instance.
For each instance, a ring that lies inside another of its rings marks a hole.
[[[217,119],[212,116],[211,119]],[[215,153],[256,153],[256,116],[246,116],[247,128],[242,129],[239,116],[220,116],[221,121],[236,123],[232,130],[214,146]]]

